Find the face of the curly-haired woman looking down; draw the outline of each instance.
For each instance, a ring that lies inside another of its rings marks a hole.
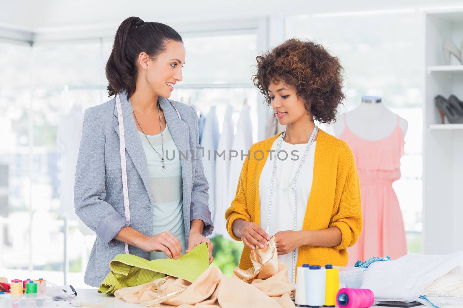
[[[304,102],[297,96],[292,86],[285,85],[281,80],[269,85],[271,107],[281,125],[293,124],[307,117]]]

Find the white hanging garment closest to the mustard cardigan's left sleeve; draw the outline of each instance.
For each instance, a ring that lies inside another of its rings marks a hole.
[[[247,156],[241,158],[241,155],[247,155],[252,145],[252,121],[250,115],[250,106],[248,104],[243,105],[243,109],[239,114],[236,135],[233,138],[232,151],[238,152],[237,157],[232,157],[230,161],[230,174],[228,177],[228,201],[227,205],[232,204],[233,199],[236,195],[236,187],[238,186],[239,174],[243,167],[244,159],[248,159]],[[232,156],[236,154],[232,152]],[[250,155],[253,155],[250,153]],[[225,218],[224,218],[225,219]]]

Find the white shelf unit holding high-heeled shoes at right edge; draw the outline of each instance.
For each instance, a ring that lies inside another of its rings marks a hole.
[[[424,12],[425,88],[423,106],[423,253],[463,250],[463,124],[441,124],[434,105],[438,94],[463,99],[463,65],[443,43],[449,37],[460,48],[463,10]]]

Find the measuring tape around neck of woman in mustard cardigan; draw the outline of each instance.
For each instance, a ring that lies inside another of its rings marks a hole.
[[[306,145],[306,148],[304,150],[304,154],[302,155],[302,159],[300,160],[300,163],[299,163],[299,167],[296,171],[296,176],[294,177],[294,181],[293,181],[293,185],[291,186],[292,189],[294,189],[294,223],[293,223],[293,229],[294,231],[296,230],[297,228],[297,191],[296,191],[296,181],[297,181],[297,178],[299,177],[299,172],[300,172],[300,169],[302,168],[302,164],[304,163],[305,159],[306,159],[306,155],[307,155],[307,151],[309,150],[310,146],[312,145],[312,142],[313,142],[313,139],[315,138],[315,136],[317,135],[318,133],[318,127],[315,126],[313,128],[313,132],[312,132],[312,135],[310,136],[310,139],[309,141],[307,142],[307,145]],[[282,134],[282,139],[280,139],[278,141],[278,146],[277,146],[277,149],[276,149],[276,152],[275,152],[275,160],[273,162],[273,170],[272,170],[272,180],[271,180],[271,184],[270,184],[270,198],[269,198],[269,214],[267,216],[267,233],[269,233],[269,229],[270,229],[270,214],[271,214],[271,211],[272,211],[272,197],[273,197],[273,184],[274,184],[274,181],[275,181],[275,169],[276,169],[276,161],[277,161],[277,153],[280,151],[280,149],[282,148],[282,140],[285,138],[285,134],[286,132],[284,132]],[[296,283],[296,249],[293,250],[293,284]]]

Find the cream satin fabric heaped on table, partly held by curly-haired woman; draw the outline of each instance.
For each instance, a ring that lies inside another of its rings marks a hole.
[[[117,290],[114,295],[144,307],[181,308],[289,308],[294,286],[288,280],[288,266],[278,262],[275,238],[269,246],[251,252],[254,267],[237,267],[234,277],[225,276],[211,266],[193,283],[181,278],[161,278],[148,284]]]

